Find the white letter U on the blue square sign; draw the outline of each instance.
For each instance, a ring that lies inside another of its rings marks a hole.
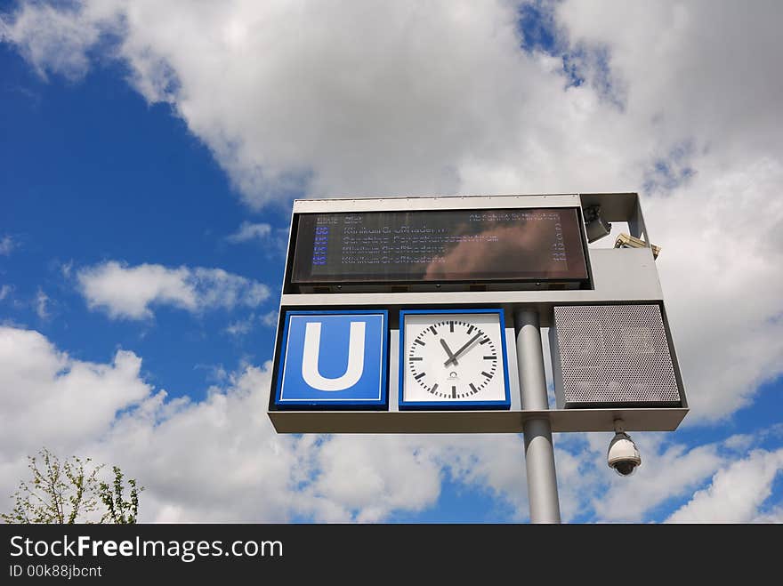
[[[304,328],[302,378],[313,389],[345,390],[359,382],[364,372],[364,322],[351,322],[348,341],[348,367],[342,376],[327,379],[319,373],[318,360],[321,345],[321,325],[311,322]]]

